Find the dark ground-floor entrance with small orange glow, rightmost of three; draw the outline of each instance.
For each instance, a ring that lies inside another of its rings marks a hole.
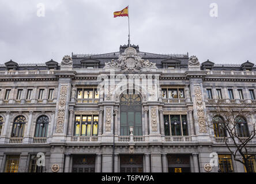
[[[169,173],[190,173],[190,155],[167,155]]]

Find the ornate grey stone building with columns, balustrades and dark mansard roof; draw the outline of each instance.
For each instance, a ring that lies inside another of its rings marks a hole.
[[[10,60],[0,65],[0,171],[244,172],[228,137],[206,124],[214,101],[254,109],[255,80],[250,62],[200,64],[136,45],[61,63]]]

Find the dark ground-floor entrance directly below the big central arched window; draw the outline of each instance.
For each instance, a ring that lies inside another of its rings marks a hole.
[[[143,173],[143,155],[120,155],[121,173]]]

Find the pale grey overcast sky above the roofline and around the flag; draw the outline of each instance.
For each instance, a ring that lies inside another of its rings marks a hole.
[[[38,17],[38,3],[45,17]],[[210,17],[211,3],[218,17]],[[127,44],[152,53],[187,53],[200,62],[256,64],[255,0],[0,0],[0,63],[61,62],[73,53],[108,53]]]

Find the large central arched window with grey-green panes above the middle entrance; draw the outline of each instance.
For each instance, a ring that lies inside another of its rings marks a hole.
[[[142,104],[140,95],[122,94],[120,105],[120,135],[130,135],[129,127],[134,127],[133,135],[142,136]]]

